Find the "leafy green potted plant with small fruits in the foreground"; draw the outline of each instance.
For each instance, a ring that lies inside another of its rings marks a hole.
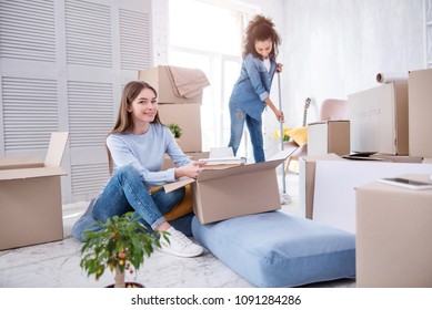
[[[97,225],[100,229],[86,232],[86,242],[81,248],[81,268],[88,276],[94,275],[97,280],[107,268],[110,269],[114,273],[114,288],[143,287],[137,283],[127,286],[124,273],[133,273],[144,262],[145,256],[150,257],[154,248],[161,247],[159,236],[140,223],[133,213],[114,216]],[[158,232],[169,242],[169,232]]]

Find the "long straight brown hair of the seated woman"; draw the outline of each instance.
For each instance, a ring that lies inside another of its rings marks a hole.
[[[158,97],[158,92],[153,86],[151,86],[149,83],[143,82],[143,81],[132,81],[129,82],[124,89],[123,93],[121,95],[121,101],[120,101],[120,107],[119,107],[119,114],[117,116],[115,124],[111,132],[108,134],[119,134],[119,133],[128,133],[132,132],[133,130],[133,121],[130,111],[130,106],[132,102],[138,97],[138,95],[141,93],[142,90],[151,90],[154,93],[154,96]],[[162,122],[159,118],[159,112],[157,112],[154,120],[151,123],[158,123],[162,124]],[[110,169],[110,175],[112,175],[113,172],[113,162],[111,157],[111,152],[107,147],[107,153],[108,153],[108,162],[109,162],[109,169]]]

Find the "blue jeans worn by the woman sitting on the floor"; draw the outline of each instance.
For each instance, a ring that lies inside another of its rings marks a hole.
[[[150,194],[138,170],[131,165],[119,168],[93,206],[93,217],[106,221],[114,215],[135,211],[152,229],[167,219],[169,213],[184,197],[184,187],[165,193],[163,188]]]

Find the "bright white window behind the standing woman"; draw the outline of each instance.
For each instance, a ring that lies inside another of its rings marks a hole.
[[[230,134],[228,100],[241,66],[242,33],[254,8],[225,1],[170,0],[169,63],[201,69],[211,86],[201,110],[203,151],[227,146]],[[240,156],[247,156],[244,135]]]

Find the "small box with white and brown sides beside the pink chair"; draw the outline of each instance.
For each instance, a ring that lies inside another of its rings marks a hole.
[[[350,121],[326,121],[308,125],[308,156],[350,154]]]

